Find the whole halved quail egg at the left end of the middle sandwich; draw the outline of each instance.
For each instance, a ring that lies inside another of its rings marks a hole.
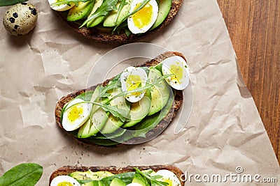
[[[62,118],[62,127],[66,131],[78,129],[90,116],[92,105],[82,99],[74,99],[67,104]]]

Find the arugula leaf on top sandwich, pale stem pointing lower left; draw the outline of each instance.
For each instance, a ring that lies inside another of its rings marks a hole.
[[[83,22],[83,24],[80,25],[80,28],[85,26],[87,22],[90,22],[91,20],[94,20],[95,18],[101,16],[101,15],[107,15],[111,10],[117,10],[116,4],[118,3],[118,0],[105,0],[103,1],[102,5],[96,10],[94,14],[92,14],[90,17],[87,17],[87,20]]]

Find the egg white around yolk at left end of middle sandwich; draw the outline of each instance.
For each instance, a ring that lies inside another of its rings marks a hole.
[[[85,101],[82,99],[74,99],[69,104],[66,106],[65,112],[63,114],[62,118],[62,127],[66,131],[73,131],[78,129],[81,125],[87,121],[87,118],[90,116],[90,111],[92,109],[92,104],[84,103]],[[75,105],[74,105],[75,104]],[[73,107],[81,107],[83,109],[82,114],[78,115],[78,118],[76,118],[75,121],[70,121],[69,120],[69,114],[71,112],[71,106],[74,105]]]

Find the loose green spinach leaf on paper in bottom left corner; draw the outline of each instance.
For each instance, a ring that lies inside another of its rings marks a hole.
[[[1,186],[34,186],[41,178],[43,167],[25,163],[14,166],[0,177]]]

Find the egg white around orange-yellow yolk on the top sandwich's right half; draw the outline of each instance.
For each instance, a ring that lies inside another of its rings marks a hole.
[[[142,3],[144,0],[133,0],[132,4],[131,4],[131,8],[130,8],[130,13],[132,13],[135,10],[135,7],[137,6],[137,4]],[[155,23],[155,20],[157,20],[158,17],[158,3],[155,0],[150,0],[146,5],[150,5],[153,8],[153,15],[151,17],[151,22],[141,28],[139,28],[138,26],[136,26],[134,24],[134,21],[132,19],[132,15],[130,17],[128,17],[127,19],[127,25],[128,25],[128,29],[130,29],[130,31],[134,34],[137,33],[145,33],[146,31],[148,31],[148,29],[151,29],[151,27],[153,26],[153,24]]]

